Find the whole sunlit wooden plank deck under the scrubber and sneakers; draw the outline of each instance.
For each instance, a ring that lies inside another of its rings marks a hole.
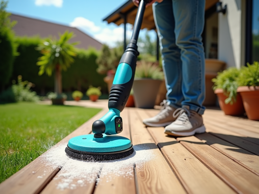
[[[77,105],[100,108],[107,105],[107,101]],[[124,128],[120,135],[130,138],[135,153],[142,150],[145,160],[133,163],[130,175],[118,175],[114,173],[117,169],[102,174],[105,169],[96,168],[92,171],[96,181],[77,185],[78,179],[74,178],[68,183],[73,187],[60,189],[59,175],[68,169],[58,164],[48,165],[44,157],[58,146],[66,145],[71,137],[91,133],[93,121],[106,112],[105,106],[49,151],[1,183],[0,193],[259,193],[259,122],[226,116],[216,109],[205,111],[206,133],[174,138],[164,134],[163,127],[146,128],[142,124],[144,118],[159,110],[125,108],[121,113]],[[82,161],[81,165],[90,163]]]

